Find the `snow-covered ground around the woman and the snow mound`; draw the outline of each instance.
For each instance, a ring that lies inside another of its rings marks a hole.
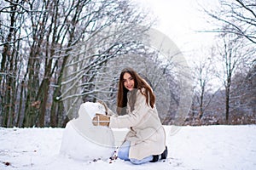
[[[166,161],[132,165],[119,159],[110,163],[61,155],[63,128],[0,127],[0,169],[256,169],[256,125],[180,127],[174,134],[171,126],[165,128]]]

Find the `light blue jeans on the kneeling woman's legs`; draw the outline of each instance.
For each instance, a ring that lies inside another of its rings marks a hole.
[[[121,160],[131,161],[131,163],[136,164],[136,165],[140,165],[140,164],[146,163],[148,161],[152,161],[153,156],[144,157],[142,160],[137,160],[134,158],[130,159],[129,158],[130,147],[131,147],[130,141],[125,141],[125,143],[120,146],[118,156]]]

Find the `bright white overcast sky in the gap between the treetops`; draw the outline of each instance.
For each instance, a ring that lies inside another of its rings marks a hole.
[[[137,0],[145,8],[151,8],[159,22],[155,29],[170,37],[186,55],[211,46],[214,34],[197,31],[211,30],[207,15],[200,5],[216,8],[218,0]],[[186,57],[186,56],[185,56]],[[187,56],[189,57],[189,56]]]

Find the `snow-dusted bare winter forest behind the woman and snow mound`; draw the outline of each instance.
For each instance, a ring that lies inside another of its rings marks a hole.
[[[0,127],[65,127],[78,106],[116,103],[119,71],[132,66],[148,80],[165,125],[256,123],[256,3],[219,0],[201,6],[212,47],[189,61],[193,95],[182,106],[175,54],[163,59],[141,39],[157,18],[130,0],[2,0]],[[182,52],[182,51],[181,51]],[[195,56],[196,55],[196,56]],[[188,105],[186,105],[188,107]]]

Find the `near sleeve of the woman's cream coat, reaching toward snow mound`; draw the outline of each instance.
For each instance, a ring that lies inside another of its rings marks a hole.
[[[137,126],[143,120],[144,116],[146,116],[149,109],[150,107],[147,105],[146,97],[138,90],[134,110],[129,111],[124,116],[111,116],[109,127],[124,128]]]

